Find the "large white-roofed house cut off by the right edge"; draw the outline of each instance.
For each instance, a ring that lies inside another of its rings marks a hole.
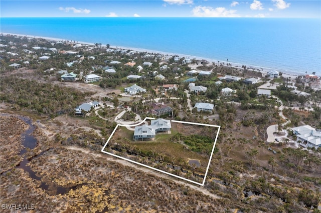
[[[301,125],[292,128],[296,135],[296,141],[300,141],[300,145],[304,147],[321,147],[321,129],[316,129],[310,125]]]

